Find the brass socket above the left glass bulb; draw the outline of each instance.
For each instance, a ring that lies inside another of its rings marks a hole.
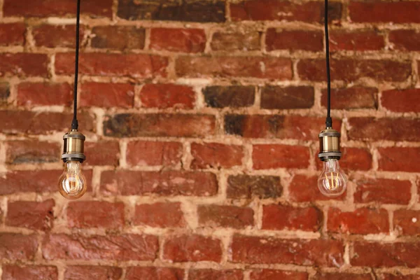
[[[63,162],[78,161],[83,162],[86,159],[84,152],[85,135],[77,130],[71,130],[63,136],[64,151],[62,154]]]

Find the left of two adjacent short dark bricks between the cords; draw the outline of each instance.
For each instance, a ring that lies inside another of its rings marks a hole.
[[[203,90],[204,100],[214,108],[239,108],[252,106],[255,100],[255,87],[243,85],[214,85]]]

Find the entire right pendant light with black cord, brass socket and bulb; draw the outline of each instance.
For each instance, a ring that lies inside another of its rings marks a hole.
[[[325,0],[325,60],[327,66],[327,118],[325,130],[318,135],[319,153],[318,158],[323,161],[323,171],[318,177],[318,188],[327,197],[338,197],[347,188],[346,174],[339,168],[339,159],[342,153],[339,151],[339,137],[337,130],[332,129],[331,111],[331,78],[330,78],[330,45],[328,39],[328,0]]]

